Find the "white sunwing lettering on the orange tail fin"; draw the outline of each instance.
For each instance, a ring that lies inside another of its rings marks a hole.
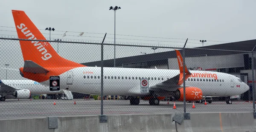
[[[17,25],[17,28],[21,29],[21,32],[27,37],[27,39],[36,40],[36,37],[28,30],[25,24],[21,23]],[[41,58],[43,60],[48,60],[52,57],[50,53],[47,53],[47,50],[44,48],[44,45],[47,43],[41,44],[39,41],[31,41],[31,43],[38,49],[39,52],[43,55]]]

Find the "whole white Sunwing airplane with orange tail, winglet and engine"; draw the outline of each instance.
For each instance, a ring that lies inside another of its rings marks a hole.
[[[87,67],[62,58],[49,42],[35,41],[46,38],[24,11],[12,10],[12,14],[19,39],[32,40],[20,40],[24,59],[21,76],[46,85],[49,85],[50,76],[59,76],[61,89],[100,95],[101,67]],[[180,70],[104,67],[104,95],[133,96],[130,99],[132,105],[140,103],[138,96],[149,100],[150,105],[158,105],[161,96],[173,96],[183,101],[183,59],[180,51],[176,50],[176,53]],[[239,95],[249,90],[241,79],[227,73],[189,71],[186,65],[185,73],[186,101],[201,100],[203,95]],[[142,84],[148,85],[148,89],[141,87]]]

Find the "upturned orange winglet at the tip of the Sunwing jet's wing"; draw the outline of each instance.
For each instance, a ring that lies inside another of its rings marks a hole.
[[[177,83],[177,85],[181,85],[183,83],[183,66],[185,66],[185,80],[191,76],[191,73],[189,72],[186,65],[183,65],[183,58],[180,54],[180,51],[177,51],[177,50],[175,50],[175,51],[177,54],[177,60],[178,60],[179,68],[180,68],[180,79],[179,79],[179,82]]]

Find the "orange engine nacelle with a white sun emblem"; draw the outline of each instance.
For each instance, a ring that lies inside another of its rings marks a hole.
[[[203,92],[198,87],[186,87],[186,101],[199,101],[203,98]],[[183,101],[183,87],[178,88],[175,100]]]

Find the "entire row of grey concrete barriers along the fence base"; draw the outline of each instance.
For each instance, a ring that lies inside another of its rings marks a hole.
[[[189,120],[176,115],[107,115],[106,123],[99,115],[2,119],[0,132],[256,132],[253,112],[190,113]]]

